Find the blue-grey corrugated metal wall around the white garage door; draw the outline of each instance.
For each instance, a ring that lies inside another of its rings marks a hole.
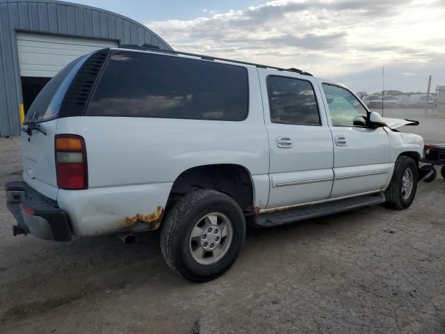
[[[17,31],[118,40],[119,44],[159,45],[159,35],[121,15],[62,1],[0,0],[0,136],[17,135],[22,103]]]

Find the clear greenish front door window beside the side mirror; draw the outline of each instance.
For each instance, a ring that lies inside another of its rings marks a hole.
[[[330,84],[322,86],[334,127],[366,126],[366,109],[352,93]]]

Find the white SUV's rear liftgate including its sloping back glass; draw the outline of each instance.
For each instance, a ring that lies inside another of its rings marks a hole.
[[[57,196],[54,136],[60,104],[86,56],[68,64],[40,91],[22,127],[23,180],[44,196]]]

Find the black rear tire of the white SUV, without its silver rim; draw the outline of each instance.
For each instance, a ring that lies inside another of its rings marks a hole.
[[[200,218],[213,212],[227,216],[232,225],[232,240],[217,262],[201,264],[192,255],[191,233]],[[218,191],[197,190],[179,199],[168,212],[161,231],[161,250],[173,271],[200,283],[218,278],[232,267],[244,239],[244,215],[233,198]]]

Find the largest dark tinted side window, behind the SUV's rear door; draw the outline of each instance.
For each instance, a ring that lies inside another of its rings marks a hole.
[[[244,67],[120,51],[110,57],[88,105],[91,116],[244,120]]]

